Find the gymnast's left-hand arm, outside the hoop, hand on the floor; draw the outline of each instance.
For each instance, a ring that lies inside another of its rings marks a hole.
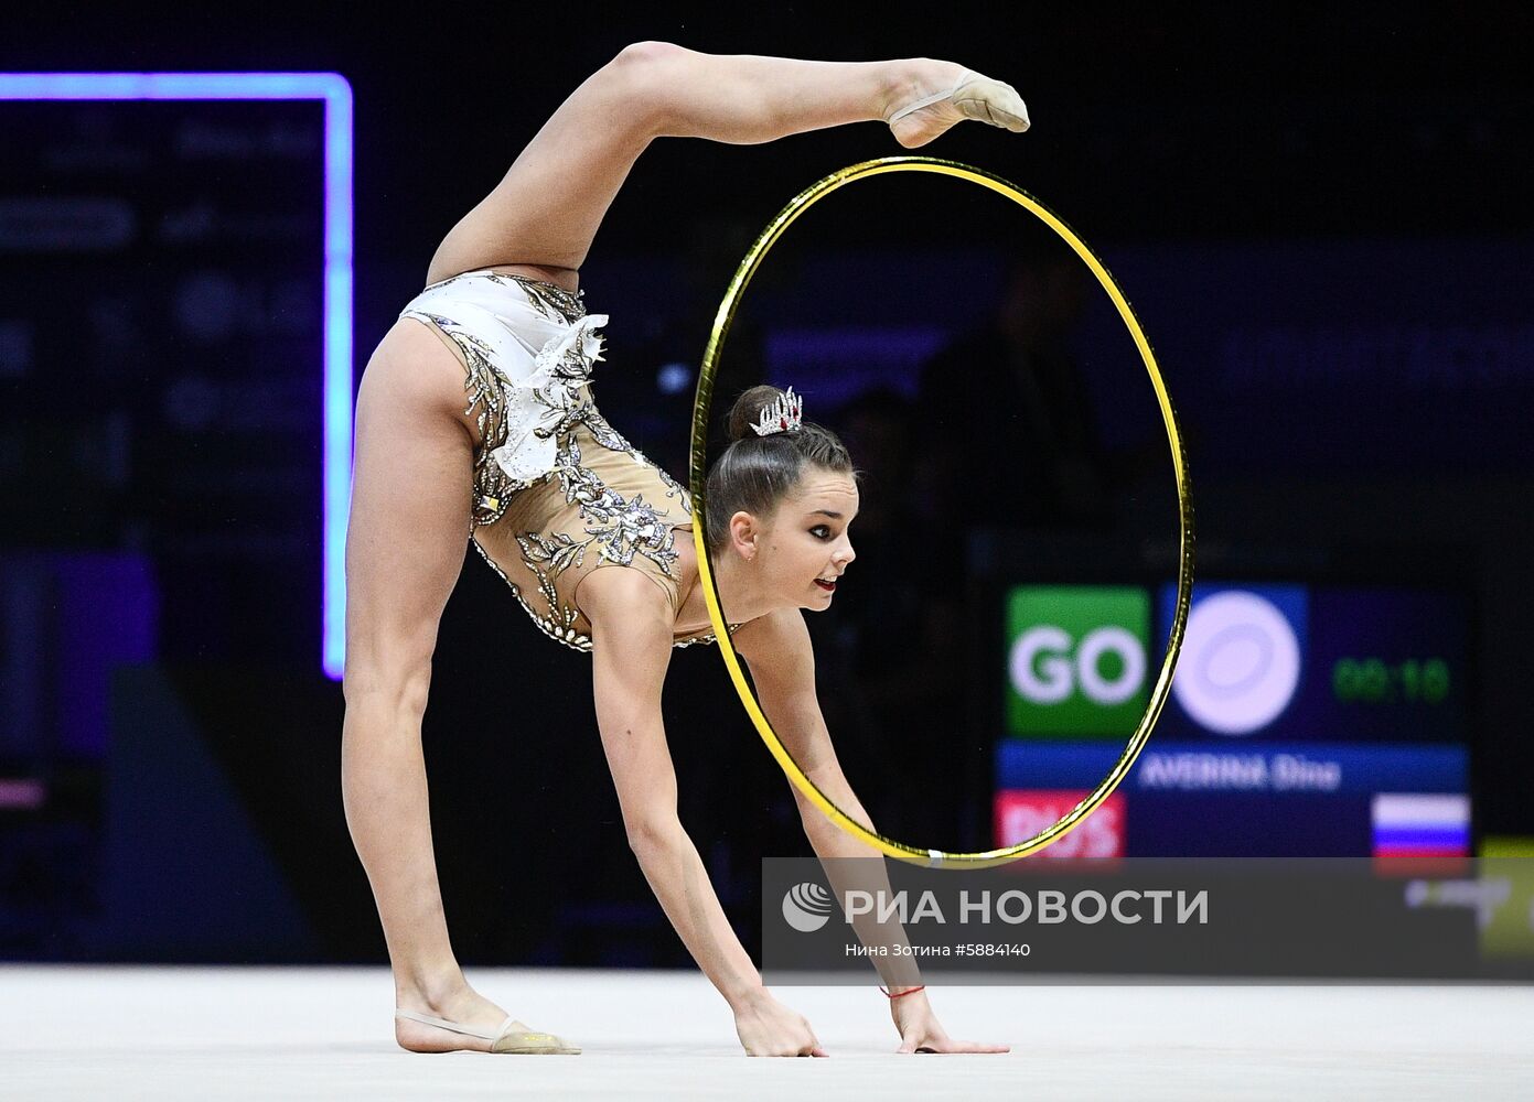
[[[824,1056],[810,1024],[762,987],[676,817],[676,772],[661,720],[673,627],[664,595],[638,570],[607,567],[581,579],[577,596],[592,624],[601,745],[644,878],[687,952],[730,1004],[747,1053]]]

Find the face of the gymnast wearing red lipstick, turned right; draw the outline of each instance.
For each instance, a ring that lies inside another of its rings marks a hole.
[[[795,608],[828,608],[836,579],[858,556],[847,532],[856,515],[850,474],[807,467],[758,540],[756,566],[770,595]]]

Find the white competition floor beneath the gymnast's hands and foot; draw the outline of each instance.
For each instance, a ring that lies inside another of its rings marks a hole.
[[[776,987],[830,1059],[747,1059],[696,973],[471,970],[581,1056],[414,1056],[385,969],[0,966],[0,1099],[1529,1099],[1534,987],[934,987],[1005,1056],[896,1056],[873,987]]]

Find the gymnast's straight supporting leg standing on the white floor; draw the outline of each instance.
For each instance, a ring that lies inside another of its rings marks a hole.
[[[347,532],[347,825],[377,901],[396,1005],[494,1031],[506,1015],[463,979],[437,886],[420,720],[437,622],[463,567],[472,446],[460,420],[463,368],[403,320],[357,394]],[[508,717],[508,722],[515,722]],[[407,1048],[488,1048],[411,1021]]]

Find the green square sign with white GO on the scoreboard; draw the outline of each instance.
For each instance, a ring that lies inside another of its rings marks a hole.
[[[1006,599],[1006,731],[1123,737],[1149,696],[1140,587],[1019,585]]]

